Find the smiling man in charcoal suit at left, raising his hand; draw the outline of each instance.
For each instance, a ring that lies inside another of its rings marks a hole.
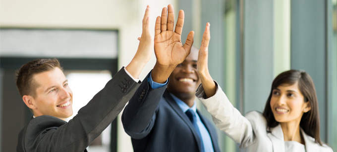
[[[93,99],[72,115],[72,91],[57,59],[38,59],[23,65],[16,85],[34,114],[20,131],[17,152],[87,152],[86,148],[108,127],[139,87],[138,78],[153,52],[149,6],[143,33],[132,61],[113,76]]]

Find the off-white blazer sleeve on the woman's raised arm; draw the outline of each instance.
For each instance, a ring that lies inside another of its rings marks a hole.
[[[195,95],[206,110],[212,114],[214,123],[235,143],[239,144],[239,147],[246,147],[252,144],[255,135],[251,122],[233,107],[221,87],[217,82],[215,83],[217,92],[214,96],[206,99],[202,84],[200,84]]]

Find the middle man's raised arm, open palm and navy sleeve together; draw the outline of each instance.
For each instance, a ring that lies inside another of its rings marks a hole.
[[[186,43],[181,43],[181,32],[184,23],[184,11],[180,10],[173,31],[173,6],[164,7],[162,16],[157,17],[155,25],[155,54],[156,65],[151,72],[154,82],[165,83],[174,68],[182,63],[189,55],[193,44],[193,31],[187,36]],[[134,139],[147,136],[156,121],[156,109],[166,86],[152,88],[148,82],[149,75],[144,79],[135,95],[125,107],[122,122],[125,132]]]

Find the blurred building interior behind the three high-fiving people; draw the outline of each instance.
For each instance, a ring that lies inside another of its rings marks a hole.
[[[168,4],[175,20],[185,11],[183,43],[193,30],[199,47],[211,23],[210,73],[242,114],[264,110],[275,76],[305,70],[316,85],[321,139],[337,151],[337,0],[0,0],[1,152],[16,150],[18,132],[32,116],[16,90],[15,71],[36,58],[58,58],[76,114],[131,61],[147,4],[152,34]],[[153,54],[141,79],[155,62]],[[223,152],[238,151],[221,131],[219,138]],[[120,115],[88,150],[133,151]]]

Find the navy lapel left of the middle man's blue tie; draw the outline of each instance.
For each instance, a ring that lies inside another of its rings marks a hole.
[[[174,99],[172,98],[172,96],[169,94],[169,91],[165,91],[164,92],[164,95],[163,95],[167,102],[169,103],[169,106],[172,107],[173,111],[175,111],[175,113],[177,113],[179,115],[179,117],[186,123],[186,125],[190,128],[190,130],[192,131],[193,133],[193,136],[195,138],[195,140],[197,141],[197,144],[198,144],[198,148],[199,148],[199,151],[201,152],[201,140],[197,134],[197,132],[195,131],[194,127],[193,127],[193,124],[192,122],[189,120],[189,118],[187,117],[187,115],[182,112],[182,110],[180,109],[180,107],[178,106],[178,104],[174,101]]]

